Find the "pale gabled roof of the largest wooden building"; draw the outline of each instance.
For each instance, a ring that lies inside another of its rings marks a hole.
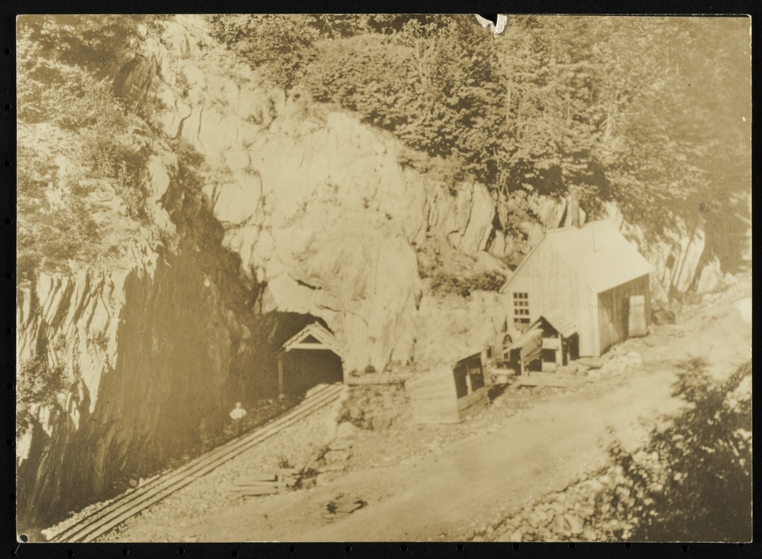
[[[552,251],[577,270],[594,292],[600,293],[620,286],[653,271],[651,264],[638,249],[608,221],[588,222],[581,227],[552,229],[527,254],[514,270],[511,280],[501,288],[507,289],[511,281],[530,260],[540,244],[549,244]]]

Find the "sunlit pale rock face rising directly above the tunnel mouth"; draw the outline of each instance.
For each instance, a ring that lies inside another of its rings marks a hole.
[[[403,169],[395,139],[303,91],[258,82],[211,44],[200,18],[178,17],[141,50],[162,75],[165,132],[212,167],[204,192],[226,246],[268,285],[263,311],[323,318],[348,370],[409,361],[421,298],[415,247],[435,235],[465,254],[487,249],[488,190],[463,184],[451,195]],[[506,250],[502,241],[492,254]]]

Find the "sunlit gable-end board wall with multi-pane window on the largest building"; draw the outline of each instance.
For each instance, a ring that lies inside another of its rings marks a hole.
[[[577,323],[580,356],[597,356],[597,297],[588,284],[544,239],[527,258],[504,292],[508,323],[514,320],[514,292],[528,293],[530,322],[545,311],[565,311]]]

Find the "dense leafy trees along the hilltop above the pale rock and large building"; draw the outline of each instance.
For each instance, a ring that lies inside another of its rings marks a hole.
[[[748,190],[750,75],[743,18],[216,16],[216,37],[287,88],[357,111],[450,161],[498,200],[617,200],[654,231],[701,200]],[[746,115],[745,120],[741,116]]]

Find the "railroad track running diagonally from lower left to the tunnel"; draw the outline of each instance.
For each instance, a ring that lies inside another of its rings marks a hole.
[[[292,426],[315,411],[332,404],[341,394],[343,385],[326,385],[319,388],[309,398],[305,398],[295,407],[281,414],[269,423],[210,450],[206,454],[187,462],[180,468],[160,474],[146,484],[130,490],[100,509],[94,510],[73,525],[70,525],[50,538],[49,541],[88,542],[110,532],[131,516],[164,499],[187,484],[208,474],[213,469],[228,462],[231,458],[257,446],[265,439],[275,436],[288,426]]]

